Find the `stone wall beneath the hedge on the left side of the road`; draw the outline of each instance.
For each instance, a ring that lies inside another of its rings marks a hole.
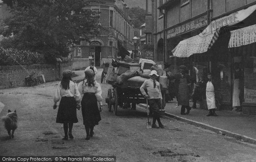
[[[50,82],[61,78],[62,71],[72,69],[72,63],[57,65],[14,65],[0,66],[0,89],[25,86],[25,78],[35,72],[35,76],[44,75],[45,81]]]

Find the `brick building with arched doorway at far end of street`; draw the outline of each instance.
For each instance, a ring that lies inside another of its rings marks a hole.
[[[99,12],[100,23],[106,29],[97,36],[88,35],[90,38],[81,40],[73,52],[73,69],[84,69],[90,65],[89,57],[93,59],[96,66],[111,61],[119,55],[121,48],[133,47],[134,23],[128,16],[127,6],[124,0],[99,0],[93,2],[84,9]]]

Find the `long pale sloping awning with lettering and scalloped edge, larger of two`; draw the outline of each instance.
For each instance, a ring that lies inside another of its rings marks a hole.
[[[256,5],[247,9],[237,11],[219,19],[213,20],[200,34],[190,37],[180,43],[172,50],[173,56],[189,57],[192,54],[201,54],[212,47],[218,39],[221,27],[233,26],[246,19],[256,10]]]

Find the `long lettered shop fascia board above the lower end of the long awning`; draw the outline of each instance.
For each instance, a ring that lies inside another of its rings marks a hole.
[[[201,16],[195,20],[191,20],[187,23],[181,24],[174,28],[170,28],[167,31],[167,39],[176,37],[177,35],[183,34],[184,32],[192,31],[208,24],[207,15]]]

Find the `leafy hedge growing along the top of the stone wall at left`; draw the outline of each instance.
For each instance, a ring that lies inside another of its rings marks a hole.
[[[12,48],[0,48],[0,65],[32,65],[44,64],[43,54],[26,50],[15,50]]]

